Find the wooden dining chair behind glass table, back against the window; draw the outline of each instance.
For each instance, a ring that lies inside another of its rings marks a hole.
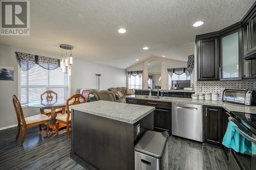
[[[46,101],[52,101],[52,100],[53,100],[53,95],[55,95],[55,100],[58,99],[58,94],[57,94],[56,92],[54,92],[54,91],[52,91],[52,90],[47,90],[47,91],[45,91],[44,93],[41,94],[41,101],[44,100],[44,95],[45,95],[45,94],[47,94],[47,95],[46,95]],[[63,108],[56,109],[56,110],[55,110],[55,114],[57,114],[57,113],[63,113],[62,110],[63,110]],[[51,111],[52,111],[51,109],[40,108],[41,114],[45,114],[45,115],[47,115],[47,116],[50,116],[50,115],[51,115]]]

